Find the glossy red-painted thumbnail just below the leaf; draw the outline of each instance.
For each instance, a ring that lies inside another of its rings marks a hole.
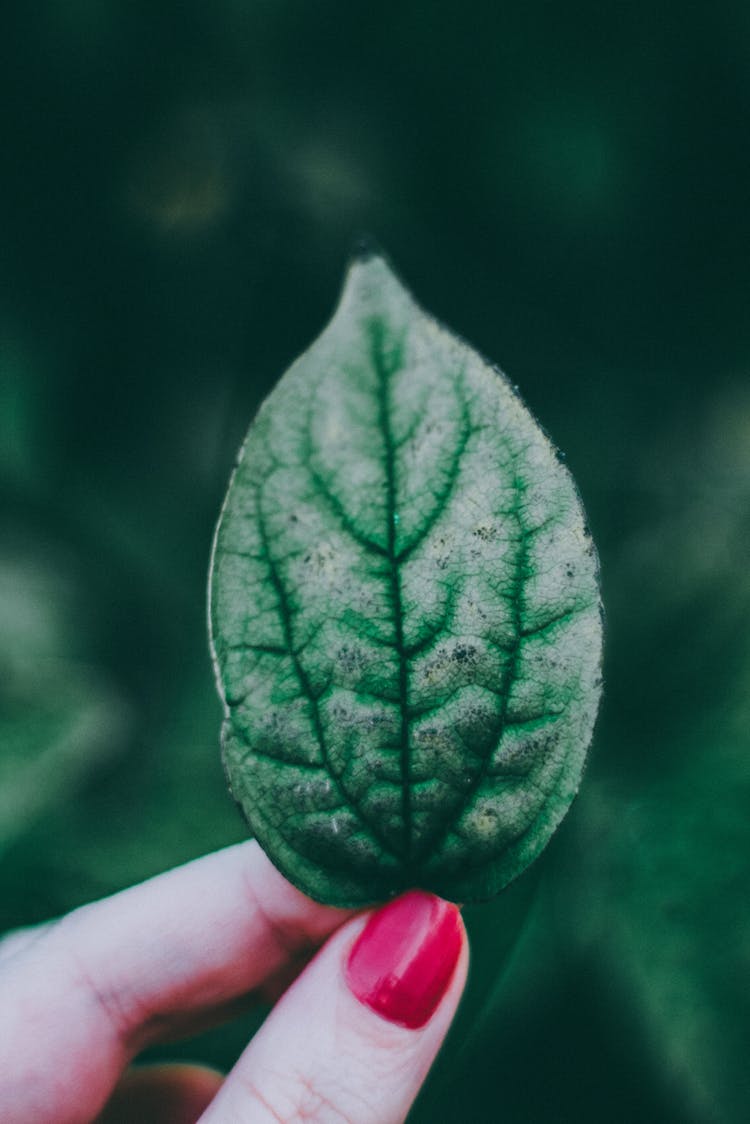
[[[452,903],[410,890],[372,914],[349,954],[346,982],[365,1007],[416,1030],[445,995],[461,940]]]

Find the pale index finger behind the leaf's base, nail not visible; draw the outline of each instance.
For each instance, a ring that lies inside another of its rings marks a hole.
[[[0,1120],[90,1120],[145,1043],[278,978],[346,916],[255,843],[69,914],[0,964]]]

